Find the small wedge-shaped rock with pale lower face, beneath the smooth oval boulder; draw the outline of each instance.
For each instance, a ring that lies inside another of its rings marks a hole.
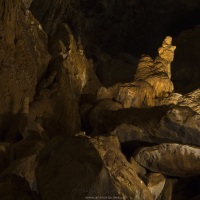
[[[153,198],[158,199],[161,192],[163,191],[166,179],[160,173],[150,173],[147,176],[147,187],[151,191]]]

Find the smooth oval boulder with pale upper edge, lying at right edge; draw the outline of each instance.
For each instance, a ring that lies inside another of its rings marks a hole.
[[[181,144],[161,144],[140,149],[135,160],[153,172],[169,176],[199,175],[200,149]]]

